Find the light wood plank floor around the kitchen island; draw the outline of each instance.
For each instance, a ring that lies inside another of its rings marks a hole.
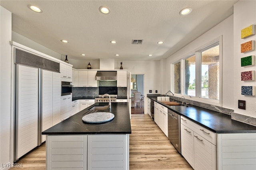
[[[130,134],[130,170],[192,170],[148,114],[133,114]],[[10,170],[45,170],[45,144],[18,162],[22,168]]]

